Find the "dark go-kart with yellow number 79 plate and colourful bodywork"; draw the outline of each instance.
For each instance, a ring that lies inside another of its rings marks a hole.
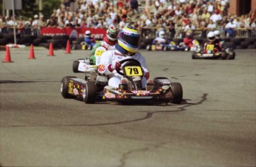
[[[140,62],[135,59],[125,59],[119,62],[121,69],[116,70],[128,83],[120,83],[119,87],[108,86],[108,77],[100,75],[100,67],[92,67],[85,72],[85,79],[65,76],[61,81],[60,92],[63,98],[80,98],[85,103],[95,103],[96,100],[134,102],[163,101],[165,103],[180,103],[183,100],[183,88],[180,83],[172,83],[165,77],[154,78],[143,89],[144,76]]]

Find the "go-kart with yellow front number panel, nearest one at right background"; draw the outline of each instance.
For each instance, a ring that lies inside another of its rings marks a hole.
[[[206,49],[200,52],[193,52],[192,53],[192,59],[234,59],[234,51],[223,50],[220,52],[216,47],[214,47],[214,44],[206,44]]]

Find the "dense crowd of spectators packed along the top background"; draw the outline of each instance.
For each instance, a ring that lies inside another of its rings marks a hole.
[[[131,24],[142,35],[163,29],[170,38],[183,38],[188,31],[200,32],[206,38],[209,30],[232,37],[235,28],[256,27],[256,11],[243,16],[230,14],[229,0],[150,0],[148,7],[139,2],[143,5],[137,0],[62,0],[50,18],[36,14],[27,21],[18,16],[14,22],[13,17],[0,16],[0,29],[15,24],[19,30],[32,27],[39,33],[40,27],[106,28],[114,24],[122,29]]]

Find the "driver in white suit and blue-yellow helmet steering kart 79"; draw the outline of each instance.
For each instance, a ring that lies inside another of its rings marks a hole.
[[[129,84],[127,78],[122,78],[116,70],[120,69],[119,61],[134,58],[140,62],[144,70],[144,77],[142,79],[142,87],[145,88],[145,83],[149,78],[148,67],[145,63],[145,58],[137,52],[140,47],[140,33],[134,27],[124,27],[118,34],[118,42],[114,50],[108,50],[102,53],[100,58],[98,71],[102,75],[108,75],[108,86],[119,87],[119,83]],[[152,80],[148,80],[152,83]]]

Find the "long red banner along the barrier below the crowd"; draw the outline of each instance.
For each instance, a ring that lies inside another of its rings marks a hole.
[[[106,29],[104,28],[56,28],[56,27],[42,27],[40,30],[41,35],[53,36],[53,35],[69,35],[70,37],[83,37],[85,31],[90,30],[91,35],[94,38],[103,38],[106,35]]]

